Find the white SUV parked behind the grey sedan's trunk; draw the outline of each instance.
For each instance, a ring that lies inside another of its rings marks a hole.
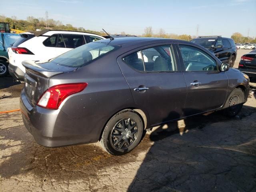
[[[24,60],[50,60],[83,44],[105,39],[102,36],[74,31],[42,30],[34,34],[20,34],[11,48],[8,48],[10,75],[24,81]]]

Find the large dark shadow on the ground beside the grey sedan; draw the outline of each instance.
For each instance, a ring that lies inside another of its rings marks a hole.
[[[256,191],[255,119],[256,108],[244,106],[234,119],[187,118],[182,136],[177,122],[160,126],[128,191]]]

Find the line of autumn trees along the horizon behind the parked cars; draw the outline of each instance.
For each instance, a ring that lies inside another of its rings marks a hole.
[[[81,32],[90,32],[98,35],[106,35],[103,31],[94,31],[88,30],[83,27],[74,27],[71,24],[62,24],[59,20],[48,19],[45,18],[35,18],[33,16],[28,16],[26,20],[18,19],[16,16],[12,16],[11,18],[5,17],[4,15],[0,15],[0,22],[9,22],[10,28],[23,30],[23,31],[35,31],[36,29],[45,29],[46,25],[49,29],[55,30],[71,30],[71,31],[81,31]],[[121,34],[126,34],[126,32],[121,32]],[[159,38],[170,38],[170,39],[180,39],[185,41],[190,41],[196,36],[190,36],[187,34],[177,35],[172,33],[166,33],[164,29],[160,29],[157,33],[153,32],[152,26],[146,27],[144,29],[144,34],[140,35],[142,37],[159,37]],[[256,38],[253,39],[251,37],[245,37],[241,33],[235,32],[231,36],[232,39],[236,43],[256,43]]]

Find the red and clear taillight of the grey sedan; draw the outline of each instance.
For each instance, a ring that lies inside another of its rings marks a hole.
[[[42,94],[37,105],[46,109],[56,110],[65,98],[81,92],[87,85],[88,83],[69,83],[52,86]]]

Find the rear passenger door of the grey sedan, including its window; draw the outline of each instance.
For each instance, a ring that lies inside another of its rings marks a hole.
[[[146,46],[118,57],[136,105],[148,112],[150,124],[183,116],[186,83],[171,44]]]

